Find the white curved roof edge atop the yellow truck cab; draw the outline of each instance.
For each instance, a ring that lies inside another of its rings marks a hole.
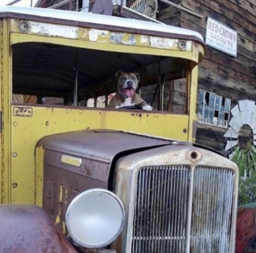
[[[127,29],[144,30],[154,33],[156,36],[159,33],[180,35],[183,38],[197,40],[204,42],[202,35],[199,32],[180,28],[176,26],[169,26],[163,23],[154,23],[149,21],[141,21],[117,16],[106,16],[93,13],[85,13],[78,11],[65,11],[47,8],[36,7],[16,7],[16,6],[0,6],[0,17],[25,18],[25,16],[33,16],[33,19],[38,17],[40,20],[60,20],[60,21],[75,21],[76,23],[91,23],[95,25],[110,26],[112,28],[118,27]]]

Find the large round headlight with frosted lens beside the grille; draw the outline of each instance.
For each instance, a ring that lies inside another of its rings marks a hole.
[[[91,189],[77,195],[65,217],[67,231],[78,246],[101,248],[120,234],[125,220],[124,206],[109,190]]]

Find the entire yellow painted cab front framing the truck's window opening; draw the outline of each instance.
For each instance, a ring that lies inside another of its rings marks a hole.
[[[43,186],[43,153],[37,150],[40,161],[35,174],[34,152],[38,140],[45,135],[57,132],[67,132],[81,129],[109,128],[138,133],[146,133],[155,136],[171,137],[184,141],[192,140],[193,121],[196,120],[196,89],[197,69],[191,75],[191,90],[189,97],[188,115],[164,114],[158,112],[146,113],[144,111],[107,111],[90,110],[80,108],[53,108],[53,107],[28,107],[26,113],[19,111],[19,106],[11,106],[11,59],[9,44],[20,42],[47,42],[71,47],[91,48],[120,53],[138,53],[162,55],[177,58],[186,58],[193,61],[192,67],[199,62],[199,55],[204,54],[204,47],[199,43],[186,41],[188,47],[185,50],[178,48],[178,40],[171,38],[159,38],[141,34],[110,32],[106,30],[89,29],[65,25],[56,26],[41,22],[30,22],[31,30],[22,34],[18,27],[18,20],[11,21],[11,32],[7,28],[7,22],[3,31],[8,40],[2,40],[3,55],[7,63],[1,68],[4,76],[1,78],[2,97],[4,97],[3,133],[2,141],[2,198],[5,202],[22,202],[42,205]],[[45,27],[44,27],[45,26]],[[48,28],[50,27],[50,29]],[[58,27],[60,29],[58,29]],[[43,29],[47,28],[47,29]],[[56,30],[57,29],[57,30]],[[55,32],[54,32],[55,31]],[[66,31],[69,31],[66,33]],[[9,33],[10,32],[10,36]],[[51,32],[53,34],[51,34]],[[2,33],[1,33],[2,34]],[[118,35],[118,36],[115,36]],[[10,41],[9,41],[10,38]],[[11,108],[11,111],[10,111]],[[10,122],[11,116],[11,122]],[[11,129],[10,129],[11,127]],[[11,132],[10,132],[11,130]],[[10,135],[11,134],[11,135]],[[11,142],[11,146],[10,146]],[[11,164],[11,165],[10,165]],[[38,185],[35,197],[35,184]],[[11,191],[11,195],[10,192]]]

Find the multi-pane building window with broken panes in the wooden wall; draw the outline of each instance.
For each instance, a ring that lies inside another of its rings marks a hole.
[[[230,98],[199,90],[197,113],[199,121],[219,127],[228,127]]]

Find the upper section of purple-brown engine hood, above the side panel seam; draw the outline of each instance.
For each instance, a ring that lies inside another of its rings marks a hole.
[[[112,160],[120,153],[171,145],[172,142],[121,131],[87,130],[46,136],[37,146],[45,148],[45,164],[107,182]],[[74,161],[81,159],[81,165],[63,162],[64,155]]]

